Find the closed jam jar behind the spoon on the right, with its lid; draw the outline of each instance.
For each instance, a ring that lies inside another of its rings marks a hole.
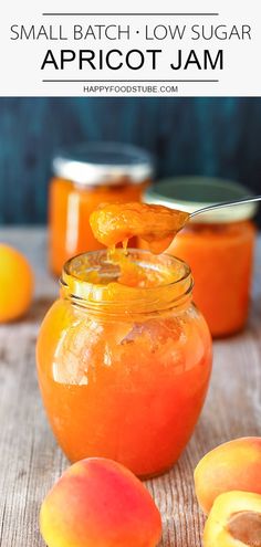
[[[145,201],[192,212],[250,194],[236,182],[180,177],[155,185],[146,192]],[[246,203],[196,217],[167,250],[190,265],[195,303],[212,336],[237,333],[248,318],[255,239],[251,219],[255,211],[255,203]]]

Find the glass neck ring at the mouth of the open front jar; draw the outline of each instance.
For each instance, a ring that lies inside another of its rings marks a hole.
[[[101,250],[80,254],[64,264],[61,295],[90,312],[117,317],[158,315],[190,304],[194,281],[184,261],[137,249],[117,252],[145,276],[153,274],[158,284],[133,287],[118,283],[119,266],[108,259],[106,250]],[[94,276],[98,282],[93,281]]]

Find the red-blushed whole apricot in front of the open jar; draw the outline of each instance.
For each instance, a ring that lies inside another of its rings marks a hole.
[[[72,465],[49,492],[40,529],[49,547],[155,547],[161,519],[130,471],[90,457]]]

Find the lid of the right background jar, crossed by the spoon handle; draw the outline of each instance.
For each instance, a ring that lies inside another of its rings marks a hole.
[[[243,185],[210,177],[175,177],[153,185],[144,201],[191,213],[207,206],[253,196]],[[254,217],[258,203],[243,203],[209,211],[195,219],[194,223],[238,222]]]

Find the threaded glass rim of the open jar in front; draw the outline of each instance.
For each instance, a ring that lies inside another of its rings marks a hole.
[[[181,301],[191,295],[194,286],[191,271],[182,260],[167,253],[155,255],[140,249],[128,249],[127,253],[133,262],[142,267],[149,265],[148,267],[152,269],[165,270],[169,281],[153,287],[130,287],[114,282],[113,278],[107,284],[87,281],[87,275],[95,272],[95,265],[112,266],[112,263],[106,262],[105,249],[81,253],[64,264],[60,280],[62,294],[90,308],[102,306],[108,313],[128,313],[128,309],[132,313],[145,313],[145,311],[152,313],[179,306]],[[114,275],[113,271],[112,275]]]

